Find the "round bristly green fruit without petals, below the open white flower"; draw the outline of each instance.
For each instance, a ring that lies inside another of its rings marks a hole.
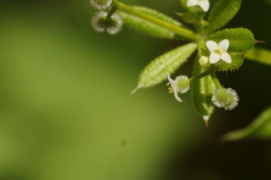
[[[212,97],[212,102],[218,108],[225,108],[225,110],[232,110],[238,105],[238,95],[235,90],[231,88],[219,88]]]

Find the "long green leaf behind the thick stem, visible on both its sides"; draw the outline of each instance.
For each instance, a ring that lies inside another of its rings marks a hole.
[[[174,20],[173,18],[166,16],[165,14],[162,14],[156,10],[147,8],[147,7],[141,7],[141,6],[132,6],[136,10],[146,13],[148,15],[151,15],[153,17],[156,17],[160,20],[163,20],[165,22],[171,23],[175,26],[184,27],[179,21]],[[150,22],[147,22],[141,18],[136,17],[135,15],[131,15],[127,12],[118,10],[118,14],[121,16],[123,21],[132,29],[139,31],[145,35],[158,37],[158,38],[167,38],[167,39],[186,39],[180,35],[177,35],[176,33],[173,33],[169,30],[166,30],[164,28],[161,28],[155,24],[152,24]]]

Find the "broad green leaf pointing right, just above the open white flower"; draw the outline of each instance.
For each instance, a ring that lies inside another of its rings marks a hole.
[[[218,31],[208,37],[209,40],[220,42],[223,39],[229,40],[229,51],[245,52],[254,47],[254,35],[248,29],[234,28]]]

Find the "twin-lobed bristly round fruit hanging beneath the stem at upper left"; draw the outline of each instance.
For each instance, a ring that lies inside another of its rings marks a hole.
[[[108,34],[115,35],[122,30],[123,21],[118,14],[113,14],[110,19],[106,19],[107,14],[105,11],[95,13],[91,19],[91,26],[99,33],[106,30]]]

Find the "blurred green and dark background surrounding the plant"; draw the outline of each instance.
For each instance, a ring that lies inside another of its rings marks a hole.
[[[211,0],[213,4],[216,0]],[[178,19],[179,0],[123,0]],[[246,61],[220,73],[241,97],[210,130],[165,83],[129,93],[153,58],[182,42],[125,27],[98,34],[89,0],[0,5],[0,180],[234,180],[271,177],[271,142],[217,143],[271,104],[271,67]],[[243,0],[227,27],[249,28],[271,49],[271,6]],[[192,59],[176,74],[191,75]],[[269,179],[267,178],[267,179]]]

